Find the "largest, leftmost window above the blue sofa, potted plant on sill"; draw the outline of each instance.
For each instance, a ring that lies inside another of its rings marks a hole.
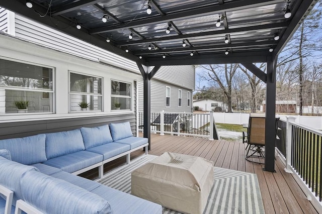
[[[53,68],[0,59],[0,113],[53,113]]]

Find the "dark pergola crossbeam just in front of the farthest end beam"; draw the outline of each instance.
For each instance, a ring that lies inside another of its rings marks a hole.
[[[245,47],[260,47],[273,45],[274,41],[262,41],[262,42],[248,42],[248,43],[237,43],[237,44],[216,44],[210,46],[196,46],[189,49],[181,47],[174,49],[159,49],[159,50],[147,50],[147,51],[136,51],[135,55],[150,55],[150,54],[171,54],[171,53],[183,53],[189,51],[205,51],[205,50],[225,50],[228,48],[245,48]]]

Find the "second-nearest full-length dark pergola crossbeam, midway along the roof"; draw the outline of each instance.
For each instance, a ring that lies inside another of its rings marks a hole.
[[[288,24],[289,22],[281,22],[281,23],[265,24],[265,25],[257,25],[257,26],[255,25],[255,26],[249,26],[249,27],[167,36],[167,37],[162,37],[157,39],[145,39],[145,40],[122,42],[122,43],[116,43],[116,45],[117,46],[138,45],[138,44],[151,43],[156,41],[162,42],[162,41],[172,41],[172,40],[188,39],[188,38],[204,37],[204,36],[215,36],[215,35],[221,35],[221,34],[225,35],[225,34],[231,34],[231,33],[248,32],[248,31],[265,30],[265,29],[281,29],[281,28],[287,28]]]

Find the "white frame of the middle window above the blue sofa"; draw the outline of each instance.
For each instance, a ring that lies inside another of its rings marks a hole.
[[[78,92],[78,91],[70,91],[70,73],[74,73],[74,74],[79,74],[79,75],[84,75],[84,76],[90,76],[90,77],[97,77],[97,78],[101,78],[102,80],[102,88],[101,94],[97,94],[97,93],[90,93],[90,92]],[[77,71],[72,71],[72,70],[68,70],[68,113],[89,113],[89,112],[103,112],[104,106],[104,90],[103,90],[103,82],[104,82],[104,78],[102,76],[96,76],[93,74],[89,74],[89,73],[82,73],[82,72],[77,72]],[[93,95],[93,96],[101,96],[102,97],[102,106],[101,106],[101,110],[90,110],[90,111],[71,111],[70,110],[70,94],[78,94],[78,95]]]

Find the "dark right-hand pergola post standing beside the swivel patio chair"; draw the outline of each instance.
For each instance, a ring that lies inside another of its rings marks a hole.
[[[267,60],[266,120],[265,120],[265,171],[275,172],[275,99],[277,56]]]

